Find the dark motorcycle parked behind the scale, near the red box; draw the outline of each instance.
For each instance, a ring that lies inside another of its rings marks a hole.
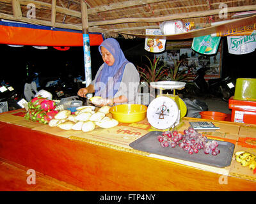
[[[198,69],[196,77],[191,83],[187,83],[184,89],[184,95],[194,96],[214,96],[228,102],[231,96],[234,96],[236,80],[231,77],[213,78],[205,80],[206,66]]]

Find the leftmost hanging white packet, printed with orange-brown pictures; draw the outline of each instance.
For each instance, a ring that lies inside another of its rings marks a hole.
[[[161,35],[160,29],[146,29],[146,34],[150,35]],[[165,47],[165,40],[146,38],[145,39],[145,50],[148,52],[163,52]]]

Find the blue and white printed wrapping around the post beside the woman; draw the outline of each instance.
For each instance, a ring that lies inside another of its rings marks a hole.
[[[84,48],[84,73],[86,87],[92,82],[92,68],[91,68],[91,51],[89,34],[83,34],[83,48]],[[92,94],[87,94],[87,98],[92,98]]]

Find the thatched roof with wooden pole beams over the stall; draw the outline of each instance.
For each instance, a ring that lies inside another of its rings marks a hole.
[[[256,10],[255,4],[255,0],[0,0],[0,18],[100,32],[114,38],[118,34],[125,38],[145,38],[145,29],[158,29],[161,22],[168,20],[194,22],[200,31],[162,36],[185,39],[256,23],[256,13],[234,18],[236,13]],[[35,6],[34,16],[30,6]],[[211,25],[230,19],[238,20]]]

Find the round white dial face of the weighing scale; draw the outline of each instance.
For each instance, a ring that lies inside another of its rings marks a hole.
[[[179,118],[179,108],[173,99],[166,96],[155,98],[148,105],[148,122],[157,129],[172,127]]]

